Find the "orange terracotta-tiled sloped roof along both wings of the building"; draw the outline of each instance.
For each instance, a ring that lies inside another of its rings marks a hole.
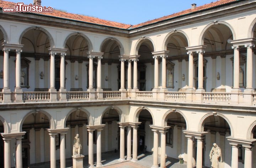
[[[224,5],[224,4],[228,4],[228,3],[233,2],[233,1],[239,1],[239,0],[219,0],[219,1],[216,1],[216,2],[212,2],[210,4],[198,6],[194,9],[187,9],[187,10],[184,10],[184,11],[181,11],[181,12],[178,12],[178,13],[174,13],[172,15],[160,17],[160,18],[153,19],[151,21],[147,21],[147,22],[143,22],[143,23],[139,23],[139,24],[136,24],[136,25],[123,24],[123,23],[118,23],[118,22],[114,22],[114,21],[107,21],[107,20],[104,20],[104,19],[96,18],[96,17],[78,15],[78,14],[69,13],[69,12],[56,10],[56,9],[54,9],[52,13],[49,12],[49,13],[37,13],[37,14],[45,15],[45,16],[53,16],[53,17],[58,17],[58,18],[63,18],[63,19],[72,19],[72,20],[75,20],[75,21],[98,24],[98,25],[104,25],[104,26],[120,28],[120,29],[134,29],[134,28],[139,28],[139,27],[145,26],[145,25],[165,21],[167,19],[175,18],[175,17],[178,17],[178,16],[183,16],[183,15],[187,15],[187,14],[190,14],[190,13],[199,12],[199,11],[202,11],[202,10],[207,10],[209,8],[217,7],[217,6]],[[14,2],[0,0],[0,7],[1,8],[2,7],[14,7],[15,5],[16,5],[16,3],[14,3]],[[36,13],[36,12],[31,12],[31,13]]]

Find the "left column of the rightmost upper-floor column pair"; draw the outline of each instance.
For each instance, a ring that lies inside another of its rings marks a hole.
[[[233,89],[239,89],[239,46],[232,46],[234,49],[234,65],[233,65]]]

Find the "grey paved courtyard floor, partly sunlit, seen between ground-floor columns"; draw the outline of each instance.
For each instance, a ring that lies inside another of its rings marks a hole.
[[[124,161],[120,162],[119,152],[107,152],[102,153],[102,164],[103,168],[150,168],[153,165],[153,155],[151,153],[138,153],[138,161]],[[96,155],[94,155],[94,163],[96,166]],[[159,166],[160,166],[160,157],[158,158]],[[73,160],[66,160],[66,167],[72,168]],[[186,164],[180,164],[177,159],[166,159],[166,168],[186,168]],[[60,167],[60,161],[56,161],[56,168]],[[37,164],[30,166],[30,168],[50,168],[50,163],[45,164]],[[88,156],[84,157],[84,168],[88,168]]]

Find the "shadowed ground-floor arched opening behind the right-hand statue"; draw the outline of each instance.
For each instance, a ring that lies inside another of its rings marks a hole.
[[[208,132],[203,137],[203,166],[210,167],[211,162],[209,160],[209,153],[212,149],[213,143],[216,143],[222,153],[222,162],[220,163],[220,167],[231,166],[231,145],[226,137],[231,135],[231,129],[228,122],[224,117],[216,114],[210,115],[206,117],[202,123],[201,131]],[[239,147],[239,160],[240,164],[242,163],[242,147]],[[196,156],[196,155],[195,155]]]

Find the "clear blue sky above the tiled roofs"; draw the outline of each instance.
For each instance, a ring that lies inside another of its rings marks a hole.
[[[33,0],[6,0],[33,3]],[[50,6],[70,13],[94,16],[126,24],[138,24],[171,15],[191,7],[216,0],[41,0],[42,6]]]

